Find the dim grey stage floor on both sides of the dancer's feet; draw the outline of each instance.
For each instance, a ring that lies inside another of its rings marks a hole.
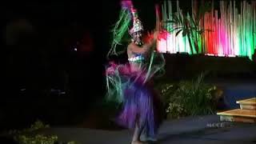
[[[218,126],[218,127],[217,127]],[[255,143],[256,125],[249,123],[219,122],[217,115],[187,117],[162,124],[158,143]],[[81,144],[129,144],[128,130],[93,130],[82,127],[52,127],[40,134],[57,134],[61,141],[76,141]]]

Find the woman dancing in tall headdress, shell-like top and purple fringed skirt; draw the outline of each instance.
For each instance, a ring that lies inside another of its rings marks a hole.
[[[129,29],[131,20],[132,26]],[[142,134],[154,137],[162,122],[162,105],[153,90],[151,79],[163,69],[164,59],[154,50],[158,30],[148,34],[150,37],[147,42],[142,41],[142,22],[131,1],[122,1],[120,20],[114,27],[114,41],[109,54],[117,54],[116,46],[122,42],[127,30],[131,36],[126,48],[128,62],[124,65],[112,62],[107,67],[107,98],[122,104],[122,111],[116,121],[134,130],[131,143],[139,144],[143,143],[140,139]]]

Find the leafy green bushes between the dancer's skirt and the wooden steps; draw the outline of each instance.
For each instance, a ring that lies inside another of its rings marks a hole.
[[[162,98],[166,101],[167,118],[214,114],[213,92],[216,87],[204,83],[203,77],[201,74],[195,81],[182,81],[176,86],[163,86]]]

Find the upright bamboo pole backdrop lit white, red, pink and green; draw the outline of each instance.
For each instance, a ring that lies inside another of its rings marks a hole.
[[[236,1],[220,1],[219,10],[215,10],[214,1],[211,2],[211,10],[206,12],[200,20],[203,34],[194,34],[198,42],[200,54],[218,56],[248,56],[251,58],[256,49],[256,1],[242,1],[240,7]],[[176,5],[176,10],[172,10]],[[198,2],[191,1],[192,13],[196,12]],[[240,10],[238,10],[240,8]],[[175,12],[174,12],[175,11]],[[182,13],[178,1],[164,1],[162,3],[162,20],[172,20],[172,14]],[[218,14],[220,17],[218,18]],[[167,23],[162,27],[167,31],[174,28],[173,23]],[[167,38],[158,41],[158,50],[162,53],[186,52],[191,54],[187,37],[174,32],[167,34]]]

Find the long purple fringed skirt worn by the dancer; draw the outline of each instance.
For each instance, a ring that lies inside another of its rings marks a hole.
[[[155,135],[162,122],[162,105],[153,86],[142,82],[126,86],[123,107],[117,122],[129,129],[138,125],[148,135]]]

